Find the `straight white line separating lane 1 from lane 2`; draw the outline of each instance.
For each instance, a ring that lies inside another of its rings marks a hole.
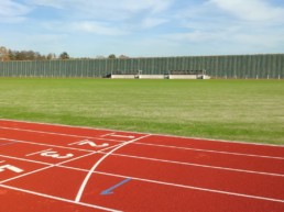
[[[78,136],[73,134],[62,134],[62,133],[51,133],[44,131],[31,131],[31,130],[22,130],[22,129],[11,129],[11,127],[2,127],[7,130],[14,130],[14,131],[24,131],[24,132],[32,132],[32,133],[40,133],[40,134],[52,134],[52,135],[61,135],[61,136],[69,136],[69,137],[80,137],[80,138],[90,138],[90,140],[103,140],[103,141],[111,141],[123,143],[122,141],[117,140],[105,140],[91,136]],[[153,135],[153,134],[152,134]],[[175,136],[172,136],[175,137]],[[4,140],[4,138],[3,138]],[[15,141],[15,140],[14,140]],[[200,148],[190,148],[190,147],[179,147],[179,146],[172,146],[172,145],[162,145],[162,144],[152,144],[152,143],[134,143],[135,145],[148,145],[148,146],[157,146],[157,147],[166,147],[166,148],[177,148],[177,149],[186,149],[186,150],[196,150],[196,152],[207,152],[207,153],[217,153],[217,154],[227,154],[227,155],[237,155],[237,156],[249,156],[249,157],[261,157],[261,158],[274,158],[274,159],[284,159],[284,157],[275,157],[275,156],[266,156],[266,155],[253,155],[253,154],[243,154],[243,153],[236,153],[236,152],[222,152],[222,150],[210,150],[210,149],[200,149]],[[250,145],[250,144],[248,144]],[[244,146],[245,147],[245,146]]]

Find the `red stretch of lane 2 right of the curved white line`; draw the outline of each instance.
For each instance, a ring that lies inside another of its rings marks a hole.
[[[149,137],[144,138],[149,140]],[[144,140],[140,141],[143,142]],[[188,163],[193,165],[215,166],[255,172],[283,175],[284,158],[231,155],[205,150],[167,148],[162,146],[130,144],[116,152],[118,155],[145,157],[153,159]]]

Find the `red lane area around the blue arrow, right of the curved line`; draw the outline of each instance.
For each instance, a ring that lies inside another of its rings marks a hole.
[[[112,194],[100,194],[123,179],[125,178],[94,175],[81,201],[134,212],[278,212],[284,209],[284,204],[280,202],[171,187],[136,179],[131,179]]]

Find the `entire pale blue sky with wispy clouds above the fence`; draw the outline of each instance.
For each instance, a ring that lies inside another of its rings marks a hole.
[[[0,0],[0,46],[72,57],[284,53],[284,1]]]

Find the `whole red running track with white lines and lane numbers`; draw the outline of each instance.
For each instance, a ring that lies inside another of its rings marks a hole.
[[[284,146],[0,120],[0,211],[283,212]]]

